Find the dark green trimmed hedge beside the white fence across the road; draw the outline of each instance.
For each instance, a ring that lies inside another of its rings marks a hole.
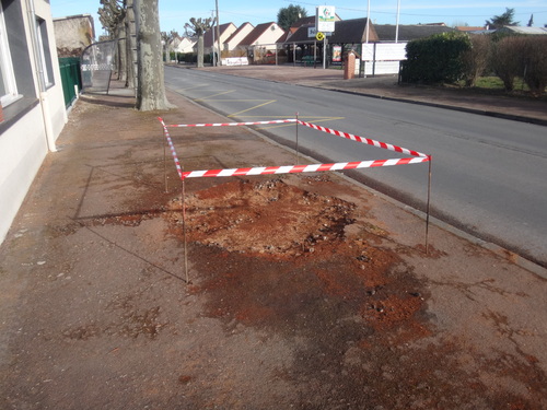
[[[407,44],[401,80],[411,83],[454,83],[465,77],[463,54],[472,48],[466,34],[435,34]]]

